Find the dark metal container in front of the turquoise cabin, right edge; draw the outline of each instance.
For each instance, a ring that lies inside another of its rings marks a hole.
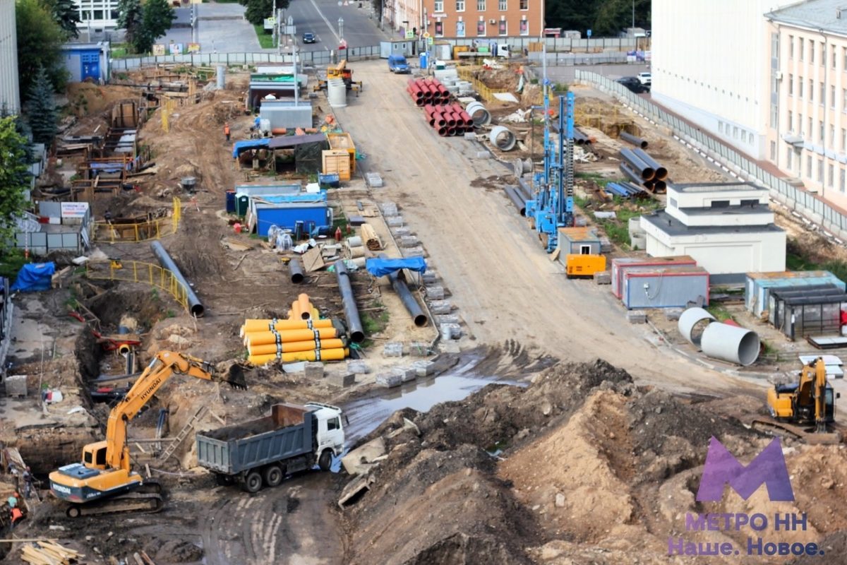
[[[769,321],[794,341],[807,335],[841,335],[841,308],[847,294],[836,285],[817,290],[772,290]]]

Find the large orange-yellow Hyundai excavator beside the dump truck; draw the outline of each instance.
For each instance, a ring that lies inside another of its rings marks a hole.
[[[124,399],[109,413],[106,440],[82,448],[82,463],[71,463],[50,474],[50,490],[68,501],[70,518],[110,512],[158,512],[161,486],[133,472],[126,426],[174,374],[226,382],[245,389],[241,367],[232,364],[220,374],[212,364],[178,352],[158,352]]]

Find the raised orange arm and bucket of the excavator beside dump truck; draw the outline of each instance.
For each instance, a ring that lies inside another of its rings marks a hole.
[[[225,374],[219,374],[212,364],[178,352],[158,352],[124,399],[109,413],[106,426],[106,465],[130,470],[130,450],[126,446],[126,424],[136,417],[152,396],[174,374],[196,379],[227,382],[236,388],[246,388],[244,374],[237,364]]]

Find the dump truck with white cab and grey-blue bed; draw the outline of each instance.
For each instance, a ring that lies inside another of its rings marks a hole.
[[[344,449],[341,415],[339,407],[320,402],[275,404],[264,418],[198,432],[197,463],[219,485],[251,493],[316,464],[328,471]]]

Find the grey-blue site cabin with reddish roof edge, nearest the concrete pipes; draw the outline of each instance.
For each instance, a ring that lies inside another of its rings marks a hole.
[[[680,265],[632,269],[623,274],[623,306],[634,308],[686,307],[709,303],[709,273],[702,267]]]

